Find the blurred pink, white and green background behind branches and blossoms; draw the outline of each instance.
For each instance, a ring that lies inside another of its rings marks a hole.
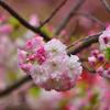
[[[63,0],[6,0],[6,2],[29,23],[37,26]],[[67,0],[42,30],[54,37],[54,32],[77,2],[78,0]],[[110,4],[109,0],[108,3]],[[101,0],[85,0],[78,11],[96,16],[106,28],[109,25],[110,12]],[[59,33],[58,38],[69,45],[78,38],[100,31],[103,29],[98,23],[75,14]],[[18,65],[16,48],[25,50],[25,43],[34,36],[35,33],[22,26],[0,7],[0,91],[26,76]],[[69,37],[70,41],[65,42]],[[87,57],[95,48],[99,48],[99,43],[92,44],[77,55],[90,66]],[[100,65],[98,64],[96,68]],[[65,92],[45,91],[32,80],[28,80],[11,92],[0,96],[0,110],[110,110],[110,81],[90,74],[85,68],[77,86]]]

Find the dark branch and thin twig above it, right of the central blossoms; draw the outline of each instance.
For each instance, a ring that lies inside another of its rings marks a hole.
[[[98,37],[102,34],[102,32],[94,34],[94,35],[89,35],[85,38],[81,38],[77,42],[75,42],[74,44],[72,44],[70,46],[68,46],[67,48],[72,47],[73,45],[77,44],[78,42],[85,40],[79,46],[75,47],[73,51],[68,52],[68,55],[70,54],[76,54],[80,51],[82,51],[85,47],[90,46],[92,43],[97,43],[98,42]]]

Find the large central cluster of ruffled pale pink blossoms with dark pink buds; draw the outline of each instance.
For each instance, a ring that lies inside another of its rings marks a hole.
[[[82,67],[76,55],[67,55],[66,46],[59,40],[45,43],[36,35],[25,48],[28,52],[18,48],[18,62],[35,85],[48,91],[66,91],[76,86]]]

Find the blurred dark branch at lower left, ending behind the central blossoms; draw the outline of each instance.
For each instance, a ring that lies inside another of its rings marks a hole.
[[[8,95],[9,92],[16,89],[18,87],[20,87],[22,84],[24,84],[30,79],[32,79],[31,76],[24,76],[22,79],[13,82],[12,85],[8,86],[4,90],[0,91],[0,97]]]

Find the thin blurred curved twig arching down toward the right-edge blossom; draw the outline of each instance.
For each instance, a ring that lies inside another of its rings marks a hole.
[[[103,23],[100,20],[98,20],[97,18],[89,15],[87,13],[84,13],[84,12],[79,12],[79,11],[75,12],[75,14],[79,14],[85,18],[88,18],[88,19],[92,20],[94,22],[97,22],[103,30],[106,30],[106,26],[103,25]]]

